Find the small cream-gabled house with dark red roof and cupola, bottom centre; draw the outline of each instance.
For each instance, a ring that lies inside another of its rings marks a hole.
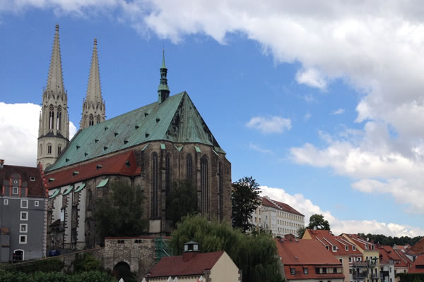
[[[168,278],[175,281],[197,282],[199,278],[209,282],[242,281],[242,273],[225,251],[200,253],[199,244],[184,244],[181,256],[163,257],[153,266],[146,276],[146,281],[166,282]]]

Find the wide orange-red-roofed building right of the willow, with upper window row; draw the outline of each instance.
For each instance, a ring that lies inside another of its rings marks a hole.
[[[295,239],[293,235],[276,239],[283,264],[283,278],[290,282],[343,282],[342,263],[318,240]]]

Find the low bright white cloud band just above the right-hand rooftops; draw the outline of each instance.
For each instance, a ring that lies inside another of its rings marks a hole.
[[[424,230],[422,228],[405,226],[397,223],[384,223],[373,219],[370,220],[340,220],[331,214],[329,211],[323,211],[316,204],[313,204],[311,200],[305,198],[302,194],[290,195],[288,192],[280,188],[270,188],[267,186],[261,186],[261,195],[268,196],[271,199],[279,202],[284,202],[301,214],[305,215],[305,225],[309,223],[309,218],[312,214],[322,214],[324,219],[330,223],[331,231],[338,235],[341,233],[372,233],[372,234],[384,234],[387,236],[409,236],[415,237],[423,235]]]

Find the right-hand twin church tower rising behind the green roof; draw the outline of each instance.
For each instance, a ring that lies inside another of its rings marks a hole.
[[[90,77],[88,78],[86,99],[83,101],[83,116],[81,116],[80,129],[88,128],[88,126],[102,121],[105,121],[105,101],[102,99],[102,90],[100,88],[97,39],[94,39]]]

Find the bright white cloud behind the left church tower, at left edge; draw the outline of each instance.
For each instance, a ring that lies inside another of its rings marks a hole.
[[[40,109],[37,104],[0,102],[0,159],[6,164],[36,165]],[[73,136],[76,132],[73,123],[69,123],[69,130]]]

